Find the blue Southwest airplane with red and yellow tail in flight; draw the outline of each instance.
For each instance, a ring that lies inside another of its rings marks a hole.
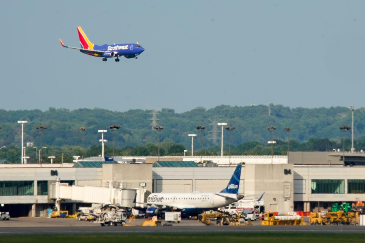
[[[145,49],[134,43],[126,43],[126,44],[104,44],[102,46],[97,46],[90,42],[90,40],[85,35],[84,31],[80,26],[77,27],[78,38],[80,39],[81,48],[65,46],[61,39],[62,47],[72,48],[80,50],[82,53],[102,57],[103,61],[106,62],[107,58],[116,58],[115,61],[119,62],[119,56],[124,56],[125,58],[138,58],[137,56],[141,54]]]

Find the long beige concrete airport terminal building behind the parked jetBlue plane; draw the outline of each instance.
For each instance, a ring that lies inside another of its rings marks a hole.
[[[211,163],[198,165],[201,159]],[[103,162],[100,157],[91,157],[73,164],[0,164],[0,211],[9,211],[12,217],[46,217],[47,209],[55,205],[52,188],[56,180],[62,185],[93,187],[95,193],[106,187],[135,189],[142,191],[140,200],[152,192],[219,192],[237,164],[243,164],[239,193],[257,195],[247,197],[254,199],[265,192],[265,211],[326,211],[332,203],[365,200],[362,153],[345,153],[345,161],[342,153],[328,152],[157,160],[115,157]],[[61,209],[70,213],[96,203],[70,198],[61,200]],[[109,197],[105,197],[107,201]]]

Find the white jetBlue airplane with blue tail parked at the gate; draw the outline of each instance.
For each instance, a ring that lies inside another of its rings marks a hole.
[[[202,211],[215,210],[242,199],[244,196],[238,194],[241,167],[237,165],[227,187],[217,193],[151,193],[147,203],[141,203],[150,206],[146,209],[146,216],[161,216],[166,211],[181,211],[187,217],[197,216]]]

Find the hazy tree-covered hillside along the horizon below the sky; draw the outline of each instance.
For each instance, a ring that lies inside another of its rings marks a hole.
[[[21,140],[21,126],[18,120],[27,120],[24,125],[24,141],[40,144],[40,133],[35,129],[38,125],[45,125],[43,132],[43,145],[49,146],[81,146],[82,134],[79,129],[85,127],[85,147],[98,145],[101,135],[98,129],[106,129],[105,139],[107,145],[112,146],[112,133],[108,129],[110,125],[120,125],[116,131],[116,147],[144,146],[148,142],[157,143],[157,132],[150,126],[152,121],[151,110],[129,110],[117,112],[104,109],[54,109],[40,110],[0,110],[0,145],[19,145]],[[330,108],[289,108],[281,105],[268,106],[226,106],[221,105],[212,109],[197,107],[184,113],[175,113],[173,109],[158,111],[158,124],[163,126],[161,141],[172,141],[182,144],[186,148],[191,145],[189,133],[200,133],[195,129],[197,125],[205,126],[203,134],[203,146],[210,148],[219,146],[220,140],[212,140],[213,125],[211,120],[227,122],[229,126],[235,126],[231,132],[231,144],[237,146],[243,142],[256,141],[265,144],[270,140],[270,133],[266,130],[269,125],[276,126],[273,133],[274,140],[286,140],[285,127],[291,127],[290,138],[297,142],[307,141],[310,138],[329,138],[339,141],[341,138],[341,125],[351,126],[351,110],[346,107]],[[362,138],[365,134],[365,108],[355,110],[355,135]],[[228,142],[228,132],[224,130],[224,140]],[[345,134],[350,137],[350,132]],[[220,139],[220,127],[216,137]],[[196,139],[199,139],[197,137]],[[199,142],[199,140],[196,140]],[[360,149],[360,148],[359,148]]]

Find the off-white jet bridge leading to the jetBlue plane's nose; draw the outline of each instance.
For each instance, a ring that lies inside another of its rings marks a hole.
[[[143,205],[134,203],[144,201],[143,189],[122,189],[113,188],[112,183],[109,187],[95,186],[76,186],[60,183],[59,178],[56,183],[51,184],[50,199],[56,200],[56,206],[59,208],[61,200],[80,201],[84,203],[104,204],[110,202],[119,204],[122,207],[143,207]]]

